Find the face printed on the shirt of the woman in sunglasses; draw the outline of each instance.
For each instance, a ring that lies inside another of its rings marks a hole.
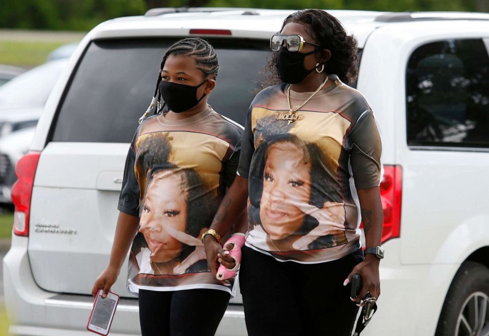
[[[292,142],[278,142],[268,149],[260,219],[274,240],[296,232],[304,221],[301,204],[307,204],[311,194],[311,162],[304,151]]]

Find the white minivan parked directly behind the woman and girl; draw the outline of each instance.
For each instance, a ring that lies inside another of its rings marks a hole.
[[[489,14],[330,12],[358,39],[351,85],[372,106],[384,141],[382,295],[364,334],[488,336]],[[220,63],[210,104],[244,123],[269,38],[289,13],[159,8],[86,35],[16,168],[3,262],[12,335],[86,335],[125,156],[165,49],[185,36],[207,38]],[[139,335],[125,281],[123,269],[111,334]],[[246,335],[239,295],[218,335]]]

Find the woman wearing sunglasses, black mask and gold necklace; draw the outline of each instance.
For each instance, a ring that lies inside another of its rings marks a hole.
[[[335,17],[309,9],[289,15],[270,45],[276,85],[251,103],[239,176],[211,228],[229,231],[249,196],[248,217],[259,218],[242,248],[248,335],[351,335],[360,300],[350,299],[348,283],[361,274],[359,298],[379,297],[383,222],[380,134],[365,98],[348,86],[357,43]],[[265,127],[270,120],[276,126]],[[289,138],[297,146],[286,146]],[[270,143],[280,146],[272,152]],[[306,215],[309,225],[297,225]],[[212,235],[204,240],[214,274],[217,262],[234,266]]]

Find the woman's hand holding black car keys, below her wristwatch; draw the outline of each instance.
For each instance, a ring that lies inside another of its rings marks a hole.
[[[360,274],[362,276],[362,288],[360,290],[360,294],[356,299],[350,298],[351,301],[356,302],[360,306],[364,306],[367,303],[363,302],[360,304],[360,300],[362,300],[367,292],[370,292],[370,296],[379,300],[379,296],[381,295],[381,285],[379,279],[379,262],[380,259],[377,258],[373,254],[367,254],[365,257],[365,261],[359,263],[353,268],[353,271],[348,275],[348,278],[345,279],[343,283],[344,286],[351,282],[351,278],[355,274]]]

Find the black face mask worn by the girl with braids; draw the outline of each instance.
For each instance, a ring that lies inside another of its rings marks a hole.
[[[209,79],[206,79],[203,83],[197,86],[161,81],[161,97],[167,104],[168,108],[173,112],[185,112],[204,99],[206,94],[203,94],[202,97],[197,100],[197,89],[206,84],[208,80]]]

